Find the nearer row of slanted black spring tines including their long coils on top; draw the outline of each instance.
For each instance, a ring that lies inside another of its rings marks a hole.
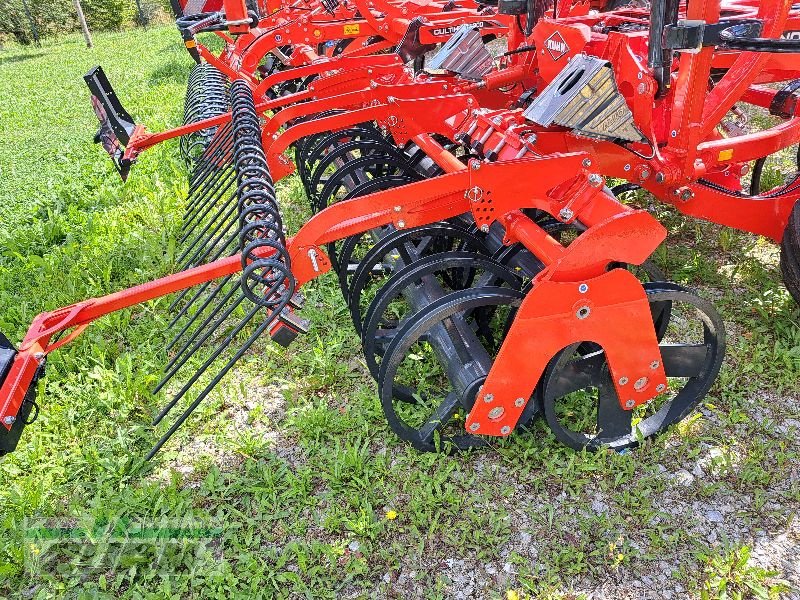
[[[188,257],[185,266],[189,266],[212,254],[218,257],[223,253],[230,255],[241,253],[245,268],[239,277],[234,278],[233,275],[229,275],[214,289],[209,290],[209,284],[204,284],[172,320],[170,327],[176,325],[181,317],[188,315],[190,307],[203,298],[202,304],[169,343],[169,351],[174,350],[179,343],[181,346],[167,364],[154,393],[164,389],[221,327],[228,330],[228,319],[237,312],[245,300],[249,301],[247,304],[250,308],[235,325],[231,320],[227,334],[224,337],[219,336],[222,341],[155,417],[153,424],[158,425],[184,398],[200,376],[231,346],[257,314],[266,313],[266,318],[162,436],[149,453],[148,460],[186,421],[255,340],[267,331],[294,295],[295,280],[286,250],[274,185],[261,147],[260,119],[255,110],[252,91],[243,81],[231,84],[230,91],[232,104],[230,129],[221,132],[222,135],[218,136],[221,141],[217,140],[216,145],[212,142],[207,148],[207,153],[203,157],[207,164],[203,164],[203,160],[200,162],[203,174],[193,181],[192,206],[186,213],[189,224],[184,230],[182,241],[190,237],[192,239],[177,262],[180,263]],[[232,151],[225,150],[228,142],[232,143]],[[220,155],[225,152],[227,164],[222,167],[219,167],[218,163],[211,164],[212,160],[208,157],[213,156],[215,152]],[[231,193],[233,187],[231,174],[234,172],[236,187]],[[226,192],[230,193],[227,198],[224,197]],[[269,259],[261,258],[263,255],[259,249],[262,247],[269,247],[272,250]],[[171,308],[177,307],[186,294],[186,290],[181,292],[173,301]]]

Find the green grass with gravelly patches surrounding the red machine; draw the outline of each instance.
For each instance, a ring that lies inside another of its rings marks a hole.
[[[172,28],[95,42],[0,53],[0,330],[15,341],[43,310],[173,267],[177,147],[147,151],[122,185],[91,142],[81,76],[102,63],[159,130],[180,123],[188,57]],[[299,183],[279,191],[296,229]],[[331,276],[306,290],[310,333],[259,342],[143,464],[165,402],[149,392],[168,320],[154,301],[51,356],[42,416],[0,462],[0,595],[797,594],[800,315],[776,249],[651,209],[671,230],[657,262],[729,333],[718,384],[669,434],[585,454],[538,423],[486,451],[419,454],[385,424]]]

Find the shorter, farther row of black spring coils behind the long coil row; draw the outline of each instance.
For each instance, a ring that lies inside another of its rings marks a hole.
[[[186,85],[186,102],[183,124],[197,123],[203,119],[228,112],[228,79],[208,63],[192,67]],[[209,127],[181,137],[181,155],[186,162],[198,160],[208,147],[217,127]]]

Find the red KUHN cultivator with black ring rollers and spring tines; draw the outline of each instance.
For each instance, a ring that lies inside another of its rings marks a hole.
[[[404,6],[261,6],[261,18],[225,2],[183,21],[203,24],[190,42],[208,29],[235,38],[220,57],[199,50],[217,66],[214,90],[190,79],[187,125],[170,132],[146,132],[101,70],[87,75],[98,139],[123,176],[146,148],[188,140],[181,270],[40,315],[18,351],[0,340],[0,452],[34,410],[49,352],[109,312],[176,294],[156,391],[180,383],[155,423],[184,410],[152,456],[255,340],[307,330],[299,290],[329,271],[387,421],[416,448],[480,446],[537,415],[574,448],[634,446],[707,394],[725,333],[708,302],[648,261],[667,232],[618,201],[631,189],[780,243],[800,299],[800,174],[760,181],[770,155],[800,142],[796,9],[431,3],[431,22],[457,15],[432,53]],[[507,39],[499,57],[485,47],[487,11]],[[333,16],[338,41],[320,24]],[[421,48],[409,54],[348,51],[356,42],[325,53],[349,39],[408,49],[409,35]],[[737,129],[750,108],[774,125]],[[314,215],[285,237],[273,180],[295,170]]]

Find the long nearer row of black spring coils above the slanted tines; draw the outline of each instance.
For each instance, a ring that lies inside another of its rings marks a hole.
[[[261,122],[247,83],[237,80],[230,91],[242,291],[255,304],[280,310],[294,294],[295,280],[261,144]],[[270,248],[274,253],[264,257]]]

